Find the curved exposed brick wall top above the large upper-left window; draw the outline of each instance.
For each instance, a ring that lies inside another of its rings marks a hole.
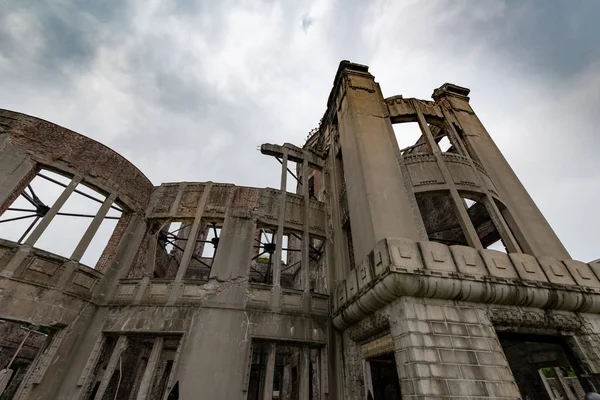
[[[134,211],[145,209],[154,189],[133,164],[95,140],[29,115],[0,110],[0,125],[13,145],[40,163],[83,175],[115,191]]]

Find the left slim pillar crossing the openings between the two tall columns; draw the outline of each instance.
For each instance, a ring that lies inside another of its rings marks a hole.
[[[467,213],[465,204],[460,195],[458,194],[456,185],[454,185],[452,175],[450,174],[448,167],[444,163],[440,147],[438,146],[435,139],[433,138],[433,135],[431,134],[429,125],[427,125],[427,121],[425,121],[425,117],[423,116],[423,113],[421,113],[421,109],[419,108],[417,100],[413,99],[411,103],[417,113],[417,121],[419,123],[419,127],[421,128],[421,132],[425,136],[425,141],[427,142],[428,147],[432,150],[437,161],[438,167],[440,168],[442,176],[444,177],[444,181],[448,186],[448,189],[450,191],[450,198],[452,200],[452,208],[454,209],[456,218],[458,219],[460,227],[462,228],[465,238],[467,239],[467,243],[469,244],[469,246],[474,247],[476,249],[483,249],[481,241],[479,240],[479,236],[477,236],[477,230],[473,226],[471,218],[469,218],[469,214]]]

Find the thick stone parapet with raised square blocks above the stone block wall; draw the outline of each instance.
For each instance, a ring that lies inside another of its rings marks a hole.
[[[402,296],[600,313],[600,264],[403,238],[380,241],[332,294],[345,329]]]

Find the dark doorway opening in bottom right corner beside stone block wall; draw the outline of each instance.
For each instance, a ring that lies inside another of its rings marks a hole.
[[[498,332],[523,400],[583,399],[592,388],[562,336]]]

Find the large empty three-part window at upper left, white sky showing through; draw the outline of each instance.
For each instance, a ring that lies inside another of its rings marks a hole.
[[[0,237],[25,243],[70,182],[71,178],[52,171],[39,171],[0,216]],[[79,183],[35,241],[35,247],[63,257],[72,257],[105,200],[105,194],[86,186],[84,182]],[[96,265],[122,213],[123,208],[117,202],[112,202],[83,255],[77,256],[81,257],[78,261],[90,267]]]

